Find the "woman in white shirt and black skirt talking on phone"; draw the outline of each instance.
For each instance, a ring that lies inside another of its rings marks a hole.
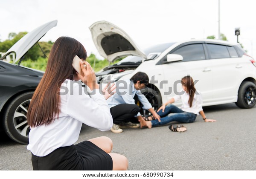
[[[73,68],[78,56],[84,76]],[[111,153],[112,141],[98,137],[74,144],[82,124],[110,130],[113,119],[96,83],[84,46],[70,37],[58,38],[52,46],[44,76],[28,110],[29,145],[34,170],[126,170],[125,156]],[[84,66],[84,64],[86,66]],[[90,92],[82,87],[84,82]],[[114,87],[111,87],[110,93]],[[104,89],[104,92],[106,90]]]

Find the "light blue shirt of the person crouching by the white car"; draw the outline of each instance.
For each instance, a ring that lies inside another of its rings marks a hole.
[[[118,104],[135,104],[135,94],[138,96],[138,99],[143,104],[142,108],[144,110],[152,108],[145,95],[143,95],[140,90],[136,90],[134,87],[134,82],[130,81],[129,79],[116,82],[116,93],[108,98],[108,106],[109,108],[111,108]],[[139,115],[140,113],[138,113],[136,117]]]

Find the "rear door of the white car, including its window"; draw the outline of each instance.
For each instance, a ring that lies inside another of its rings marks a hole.
[[[237,92],[244,72],[244,61],[234,46],[206,43],[212,61],[212,93],[215,100],[223,103],[236,102]]]

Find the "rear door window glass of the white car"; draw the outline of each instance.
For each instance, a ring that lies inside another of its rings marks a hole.
[[[227,46],[217,44],[207,44],[209,55],[212,59],[216,58],[230,58]]]

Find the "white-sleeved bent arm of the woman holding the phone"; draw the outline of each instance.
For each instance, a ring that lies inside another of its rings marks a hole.
[[[113,118],[99,89],[93,90],[89,95],[87,90],[75,81],[69,81],[66,86],[69,93],[66,101],[63,101],[63,104],[66,104],[64,113],[90,127],[102,131],[111,129]]]

